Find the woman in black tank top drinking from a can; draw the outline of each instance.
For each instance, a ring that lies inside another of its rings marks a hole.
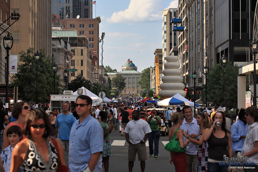
[[[219,166],[219,161],[224,161],[224,155],[233,156],[231,134],[226,129],[226,118],[223,112],[216,112],[213,115],[211,128],[204,134],[203,139],[209,145],[208,171],[230,171],[231,169],[226,166]]]

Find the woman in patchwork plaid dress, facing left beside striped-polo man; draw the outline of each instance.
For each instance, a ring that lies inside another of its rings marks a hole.
[[[188,130],[184,133],[184,136],[190,140],[193,144],[197,145],[197,163],[196,171],[208,172],[208,143],[203,140],[203,136],[210,129],[210,120],[208,114],[200,112],[196,118],[197,124],[200,127],[198,136],[196,139],[189,137]]]

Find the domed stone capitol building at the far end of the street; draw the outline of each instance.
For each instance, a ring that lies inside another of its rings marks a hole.
[[[116,75],[122,75],[122,77],[126,78],[124,81],[126,87],[123,90],[120,90],[120,95],[139,95],[141,89],[138,85],[138,81],[141,79],[141,74],[142,73],[137,72],[137,67],[132,60],[126,62],[124,66],[122,66],[122,72],[107,73],[110,79],[116,77]]]

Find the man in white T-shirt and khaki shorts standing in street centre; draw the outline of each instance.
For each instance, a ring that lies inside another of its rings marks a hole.
[[[128,167],[129,172],[132,172],[136,153],[138,154],[138,161],[140,161],[141,171],[145,169],[145,161],[147,160],[147,151],[145,142],[150,135],[151,129],[149,124],[140,119],[140,112],[134,110],[132,112],[133,120],[126,125],[126,141],[128,146]]]

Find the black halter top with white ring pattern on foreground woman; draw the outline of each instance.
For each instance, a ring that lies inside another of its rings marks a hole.
[[[46,142],[48,146],[48,164],[44,161],[34,142],[30,140],[22,171],[56,172],[58,166],[56,149],[48,139],[46,139]]]

